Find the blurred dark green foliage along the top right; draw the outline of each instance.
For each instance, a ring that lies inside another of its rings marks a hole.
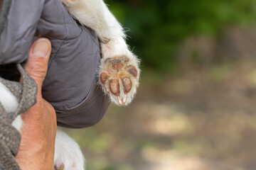
[[[142,67],[174,70],[178,43],[193,34],[218,35],[256,21],[254,0],[106,0]]]

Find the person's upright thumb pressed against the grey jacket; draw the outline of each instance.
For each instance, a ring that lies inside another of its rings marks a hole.
[[[24,69],[36,81],[38,89],[41,89],[46,77],[50,51],[50,40],[46,38],[38,38],[29,49],[28,62]]]

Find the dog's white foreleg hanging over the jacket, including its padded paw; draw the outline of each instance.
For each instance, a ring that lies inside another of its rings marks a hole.
[[[117,105],[127,105],[139,85],[139,60],[125,41],[122,26],[102,0],[61,0],[83,25],[95,30],[102,44],[99,83]]]

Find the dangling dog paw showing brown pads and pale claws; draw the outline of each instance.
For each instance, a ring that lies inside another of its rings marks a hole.
[[[137,57],[121,56],[103,58],[99,78],[102,89],[117,105],[127,105],[134,98],[139,86]]]

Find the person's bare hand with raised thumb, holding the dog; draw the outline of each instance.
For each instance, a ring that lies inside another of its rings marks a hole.
[[[53,169],[56,115],[53,106],[41,94],[46,77],[51,45],[46,38],[39,38],[31,45],[24,69],[36,81],[36,104],[22,115],[21,145],[16,156],[21,169]]]

